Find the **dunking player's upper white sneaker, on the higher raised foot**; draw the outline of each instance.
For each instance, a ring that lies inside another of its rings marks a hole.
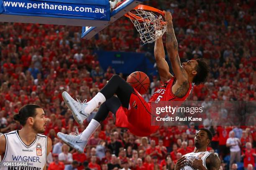
[[[87,100],[84,100],[84,102],[81,102],[80,100],[76,101],[67,92],[62,92],[62,98],[67,107],[69,107],[69,109],[72,111],[74,119],[77,121],[77,123],[82,125],[84,120],[90,115],[84,112],[84,108],[88,105],[86,103]]]

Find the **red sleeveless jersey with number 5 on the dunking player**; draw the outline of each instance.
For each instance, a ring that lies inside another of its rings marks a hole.
[[[186,95],[183,97],[177,97],[172,93],[172,86],[174,85],[175,77],[172,77],[170,80],[166,81],[161,87],[156,90],[156,92],[151,96],[148,104],[151,105],[152,102],[160,101],[184,101],[189,96],[192,91],[192,85],[189,83],[189,89],[187,90]]]

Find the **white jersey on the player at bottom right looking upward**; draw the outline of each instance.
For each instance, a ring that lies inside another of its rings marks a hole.
[[[198,153],[187,153],[186,155],[184,155],[186,157],[186,160],[191,160],[191,159],[199,159],[201,158],[202,162],[203,162],[203,166],[207,169],[206,167],[206,158],[208,158],[209,155],[214,154],[214,153],[210,153],[208,151],[204,151],[204,152],[198,152]],[[196,170],[195,168],[192,168],[190,166],[190,162],[185,162],[184,167],[181,168],[181,170]]]

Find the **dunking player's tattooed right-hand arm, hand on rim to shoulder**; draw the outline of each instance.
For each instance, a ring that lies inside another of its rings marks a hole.
[[[165,12],[165,20],[167,22],[166,49],[169,59],[172,62],[172,70],[176,77],[176,82],[172,87],[172,92],[177,97],[183,97],[189,88],[188,75],[180,64],[178,42],[174,34],[171,13]]]

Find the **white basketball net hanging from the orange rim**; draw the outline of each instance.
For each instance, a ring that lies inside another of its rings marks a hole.
[[[158,16],[153,12],[134,10],[133,15],[138,16],[138,19],[136,18],[134,20],[131,17],[130,19],[141,36],[141,45],[155,42],[155,40],[162,37],[164,32],[166,32],[166,24],[161,24],[163,18],[160,14]]]

